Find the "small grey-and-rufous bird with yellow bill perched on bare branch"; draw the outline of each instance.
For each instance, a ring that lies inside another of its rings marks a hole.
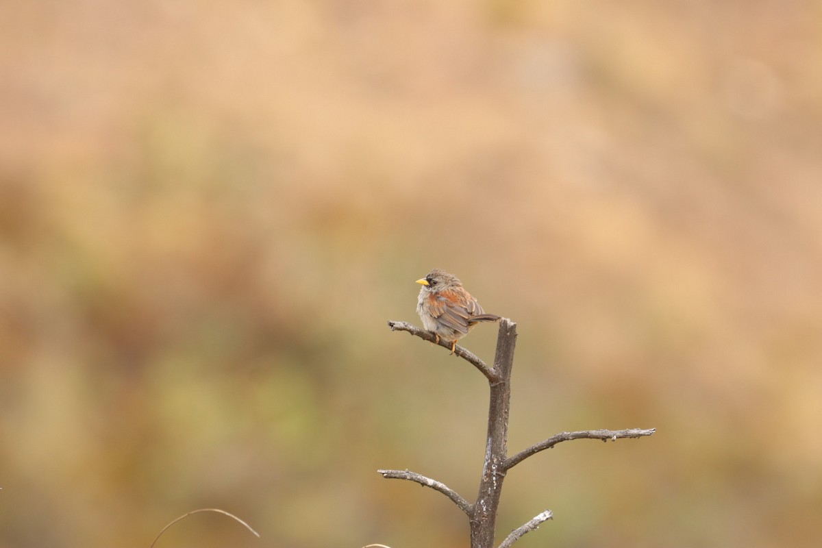
[[[417,300],[417,313],[423,320],[423,327],[436,335],[436,343],[440,338],[451,341],[452,354],[457,341],[475,324],[500,319],[496,314],[486,314],[477,299],[465,291],[462,282],[444,270],[433,269],[417,283],[423,285]]]

